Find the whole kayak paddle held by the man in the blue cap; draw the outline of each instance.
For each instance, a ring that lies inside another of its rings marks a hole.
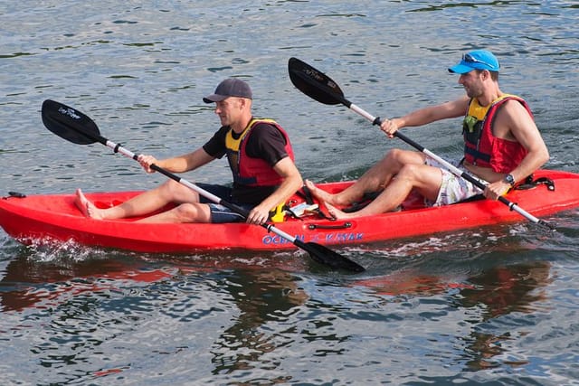
[[[309,98],[318,100],[318,102],[324,103],[326,105],[342,104],[346,106],[346,108],[350,108],[357,114],[368,119],[370,122],[372,122],[373,125],[380,126],[382,124],[382,119],[380,119],[379,117],[373,117],[362,108],[357,107],[354,103],[347,100],[344,97],[344,93],[337,86],[337,83],[334,80],[331,80],[325,73],[314,69],[308,63],[300,61],[297,58],[289,58],[288,71],[289,71],[289,79],[294,84],[294,86],[296,86],[296,88],[298,88],[301,92],[306,94]],[[394,137],[399,137],[408,145],[413,146],[418,151],[438,161],[439,163],[441,163],[441,165],[444,165],[447,169],[449,169],[449,171],[451,171],[452,174],[464,178],[465,180],[470,182],[470,184],[474,184],[475,186],[477,186],[482,190],[485,189],[486,187],[485,184],[482,184],[479,180],[472,177],[470,174],[461,171],[458,167],[445,161],[440,156],[433,154],[430,150],[417,144],[409,137],[404,136],[399,130],[394,133]],[[506,197],[500,196],[498,197],[498,201],[507,205],[511,211],[515,211],[520,215],[522,215],[523,217],[526,217],[527,220],[535,222],[537,224],[544,225],[552,230],[555,230],[555,227],[552,224],[544,220],[537,219],[532,214],[526,212],[522,208],[519,208],[517,203],[510,202]]]

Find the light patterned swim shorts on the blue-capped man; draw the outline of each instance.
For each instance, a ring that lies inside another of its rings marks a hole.
[[[436,198],[435,202],[430,200],[425,200],[426,205],[428,206],[441,206],[441,205],[450,205],[451,203],[460,202],[462,200],[466,200],[472,196],[477,194],[482,194],[482,190],[476,187],[473,184],[470,184],[467,180],[457,175],[454,175],[444,167],[441,163],[436,160],[433,160],[430,157],[426,158],[426,165],[438,167],[441,169],[442,172],[442,184],[441,190],[438,193],[438,197]],[[460,163],[452,163],[456,165],[461,171],[466,171],[466,169],[460,165]],[[476,178],[481,183],[486,184],[484,180],[479,179],[478,177],[473,175],[473,178]]]

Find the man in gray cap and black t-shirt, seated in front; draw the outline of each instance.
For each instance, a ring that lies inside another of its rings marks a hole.
[[[152,155],[138,155],[147,173],[155,164],[172,173],[185,173],[216,158],[227,157],[233,173],[233,186],[197,184],[224,201],[249,211],[247,219],[239,213],[195,193],[169,179],[157,188],[142,193],[117,206],[101,209],[77,190],[76,204],[93,219],[121,219],[147,216],[174,202],[177,206],[139,221],[143,222],[236,222],[262,224],[271,211],[286,202],[302,185],[294,164],[293,150],[285,130],[272,119],[253,118],[252,89],[238,79],[223,80],[205,103],[215,103],[221,128],[204,146],[192,153],[157,160]]]

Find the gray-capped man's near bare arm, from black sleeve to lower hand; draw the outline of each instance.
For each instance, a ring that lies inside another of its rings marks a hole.
[[[273,165],[273,170],[283,177],[283,182],[274,193],[271,193],[269,197],[252,209],[247,218],[247,222],[261,224],[267,221],[270,211],[281,202],[288,201],[289,197],[291,197],[293,193],[296,193],[303,184],[301,174],[299,174],[298,168],[289,156],[281,159],[276,165]]]

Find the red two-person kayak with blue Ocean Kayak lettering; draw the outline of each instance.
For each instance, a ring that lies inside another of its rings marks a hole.
[[[539,170],[536,184],[526,190],[513,190],[508,200],[534,216],[579,207],[579,174]],[[331,193],[353,184],[318,184]],[[139,192],[85,193],[104,208],[127,201]],[[74,241],[87,246],[128,249],[141,252],[190,252],[200,249],[294,249],[295,245],[266,229],[246,223],[227,224],[147,224],[138,219],[100,221],[85,218],[74,204],[74,194],[11,195],[0,200],[0,226],[24,244],[43,241]],[[291,202],[304,202],[295,195]],[[398,212],[332,221],[308,213],[286,216],[275,226],[297,240],[322,245],[365,244],[375,241],[456,231],[502,222],[526,221],[508,206],[486,199],[428,208],[422,200],[409,197]]]

